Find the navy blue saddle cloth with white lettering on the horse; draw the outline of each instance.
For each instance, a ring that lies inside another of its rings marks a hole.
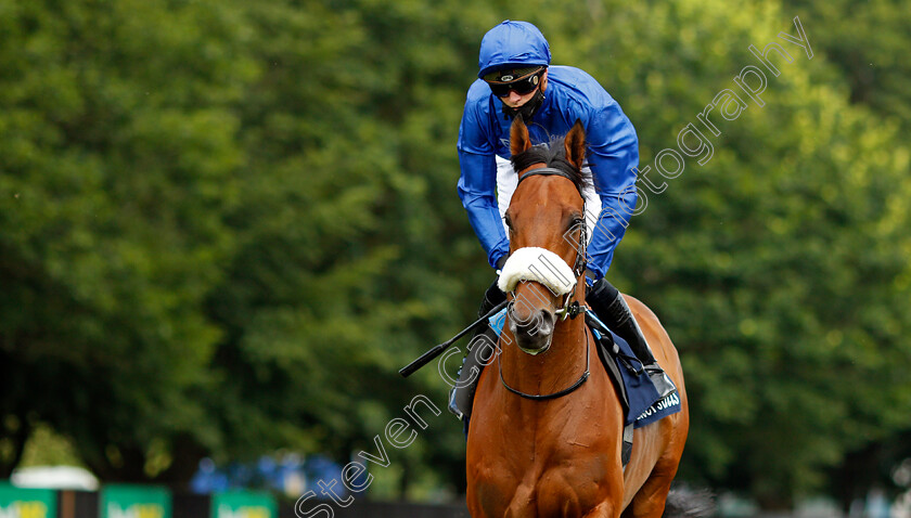
[[[590,309],[586,309],[586,311],[592,319],[601,323],[593,311]],[[491,316],[489,322],[490,327],[493,328],[497,332],[497,336],[499,336],[506,322],[506,310],[503,309]],[[603,323],[602,327],[607,328],[607,326],[603,325]],[[601,338],[601,333],[598,329],[593,327],[589,328],[596,338]],[[630,361],[624,360],[624,358],[636,358],[632,353],[632,349],[629,347],[629,344],[627,344],[625,339],[615,334],[613,331],[611,332],[611,336],[614,339],[615,347],[613,351],[606,352],[610,359],[617,364],[617,371],[620,373],[623,384],[626,387],[627,399],[629,400],[629,411],[627,412],[626,424],[632,424],[633,428],[641,428],[660,419],[662,417],[680,412],[680,394],[675,392],[664,399],[660,399],[657,389],[655,389],[655,385],[649,376],[642,372],[641,368],[639,368],[640,373],[637,374],[636,368],[630,365]],[[638,360],[632,361],[639,364]],[[613,376],[611,373],[612,370],[606,366],[605,368],[608,374]]]

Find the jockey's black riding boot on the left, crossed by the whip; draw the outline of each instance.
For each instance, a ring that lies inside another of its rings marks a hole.
[[[497,281],[493,281],[493,284],[484,294],[484,300],[480,301],[480,308],[477,310],[478,319],[504,300],[506,300],[506,294],[500,292]],[[484,370],[485,362],[488,362],[490,354],[493,353],[492,348],[488,346],[496,348],[497,336],[490,329],[490,326],[479,327],[469,341],[469,351],[462,359],[462,367],[459,370],[459,381],[449,391],[449,412],[464,422],[466,433],[477,380],[480,379],[480,372]]]

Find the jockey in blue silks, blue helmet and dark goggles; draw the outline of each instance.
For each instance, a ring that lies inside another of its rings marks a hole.
[[[589,164],[582,174],[588,180],[583,194],[587,235],[591,236],[586,301],[602,322],[629,342],[664,398],[676,387],[655,361],[623,296],[604,279],[636,206],[636,130],[594,78],[578,68],[550,66],[550,62],[548,41],[527,22],[506,20],[484,36],[478,79],[469,88],[459,128],[459,197],[488,262],[499,274],[510,252],[503,215],[518,180],[510,163],[512,119],[522,116],[531,141],[538,143],[566,134],[576,120],[581,120],[589,146]],[[478,316],[505,297],[495,281]],[[460,418],[471,413],[480,373],[476,357],[466,354],[460,383],[450,394],[450,411]]]

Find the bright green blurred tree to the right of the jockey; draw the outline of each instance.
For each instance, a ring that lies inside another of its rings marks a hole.
[[[612,273],[681,350],[693,414],[681,475],[768,507],[820,490],[826,467],[907,427],[909,404],[908,150],[895,125],[849,104],[824,57],[777,38],[796,34],[792,18],[711,1],[573,17],[592,21],[579,62],[630,114],[652,181],[667,183],[645,191]],[[771,41],[794,62],[767,74],[765,106],[744,95],[736,120],[716,111],[716,138],[696,115],[759,65],[749,44]],[[689,122],[714,155],[665,179],[655,156]]]

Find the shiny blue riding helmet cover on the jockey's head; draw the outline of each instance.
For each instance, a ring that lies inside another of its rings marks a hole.
[[[550,60],[550,46],[538,27],[528,22],[504,20],[480,40],[477,77],[510,66],[548,66]]]

